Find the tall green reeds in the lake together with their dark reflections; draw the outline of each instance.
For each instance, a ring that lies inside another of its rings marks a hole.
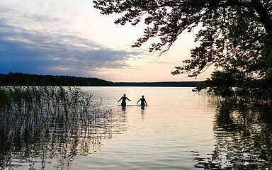
[[[1,88],[0,98],[0,169],[45,169],[49,159],[69,166],[112,136],[111,111],[80,89]]]

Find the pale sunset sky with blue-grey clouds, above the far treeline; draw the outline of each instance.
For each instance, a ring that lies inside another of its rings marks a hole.
[[[196,81],[172,76],[196,47],[195,33],[183,33],[164,55],[133,48],[144,24],[115,25],[92,0],[1,0],[0,73],[71,75],[109,81]]]

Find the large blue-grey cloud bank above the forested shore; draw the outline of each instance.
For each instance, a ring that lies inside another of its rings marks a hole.
[[[0,72],[96,76],[99,69],[130,67],[128,61],[140,55],[62,30],[55,17],[0,11]]]

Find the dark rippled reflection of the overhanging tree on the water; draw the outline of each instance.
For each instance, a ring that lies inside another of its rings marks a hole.
[[[203,169],[272,169],[272,111],[232,109],[222,103],[214,132],[215,149],[211,157],[196,157]]]

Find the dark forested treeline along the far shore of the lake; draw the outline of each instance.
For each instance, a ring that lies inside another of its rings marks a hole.
[[[24,73],[0,74],[0,86],[174,86],[196,87],[203,81],[118,82],[97,78],[51,76]]]

